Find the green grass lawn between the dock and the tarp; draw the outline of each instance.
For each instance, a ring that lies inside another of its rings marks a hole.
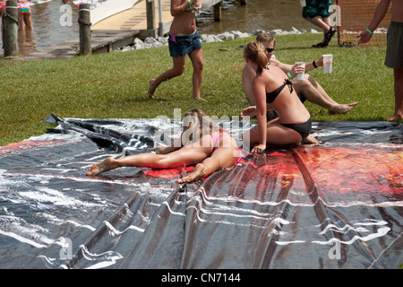
[[[150,78],[172,67],[168,48],[149,48],[89,57],[17,62],[0,60],[0,146],[46,133],[44,118],[174,117],[174,109],[203,109],[210,116],[238,116],[246,107],[241,72],[243,49],[254,39],[203,43],[204,72],[201,97],[193,100],[193,67],[187,59],[183,75],[162,83],[156,99],[147,96]],[[276,57],[288,64],[312,62],[333,54],[332,74],[322,67],[310,72],[339,103],[358,101],[346,115],[331,116],[326,109],[305,103],[313,121],[387,120],[394,109],[393,72],[383,65],[385,47],[311,48],[321,34],[278,36]]]

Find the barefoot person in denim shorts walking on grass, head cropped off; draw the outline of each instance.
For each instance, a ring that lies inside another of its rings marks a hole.
[[[151,79],[148,94],[154,99],[154,92],[160,83],[184,73],[186,55],[193,65],[193,99],[203,100],[200,96],[203,76],[203,59],[200,34],[196,28],[195,11],[201,7],[199,0],[171,0],[171,15],[174,20],[169,30],[168,47],[174,66]]]

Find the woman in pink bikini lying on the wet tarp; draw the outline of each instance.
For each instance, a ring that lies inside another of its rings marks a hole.
[[[195,165],[191,174],[176,180],[190,182],[207,177],[216,170],[236,165],[241,152],[229,133],[216,125],[201,109],[192,109],[184,114],[183,132],[170,146],[152,148],[153,152],[125,156],[122,159],[107,158],[93,164],[88,176],[96,176],[107,170],[120,167],[146,167],[174,169]]]

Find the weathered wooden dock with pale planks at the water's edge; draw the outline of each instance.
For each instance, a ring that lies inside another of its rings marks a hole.
[[[244,2],[245,0],[241,0]],[[145,39],[166,34],[173,17],[170,13],[170,0],[149,2],[140,0],[132,8],[116,13],[91,26],[92,54],[111,52],[133,43],[134,38]],[[222,0],[201,0],[203,9],[214,6],[215,21],[221,19]],[[159,16],[161,11],[161,16]],[[16,61],[56,59],[75,57],[80,52],[80,38],[70,39],[53,47],[15,58]]]

